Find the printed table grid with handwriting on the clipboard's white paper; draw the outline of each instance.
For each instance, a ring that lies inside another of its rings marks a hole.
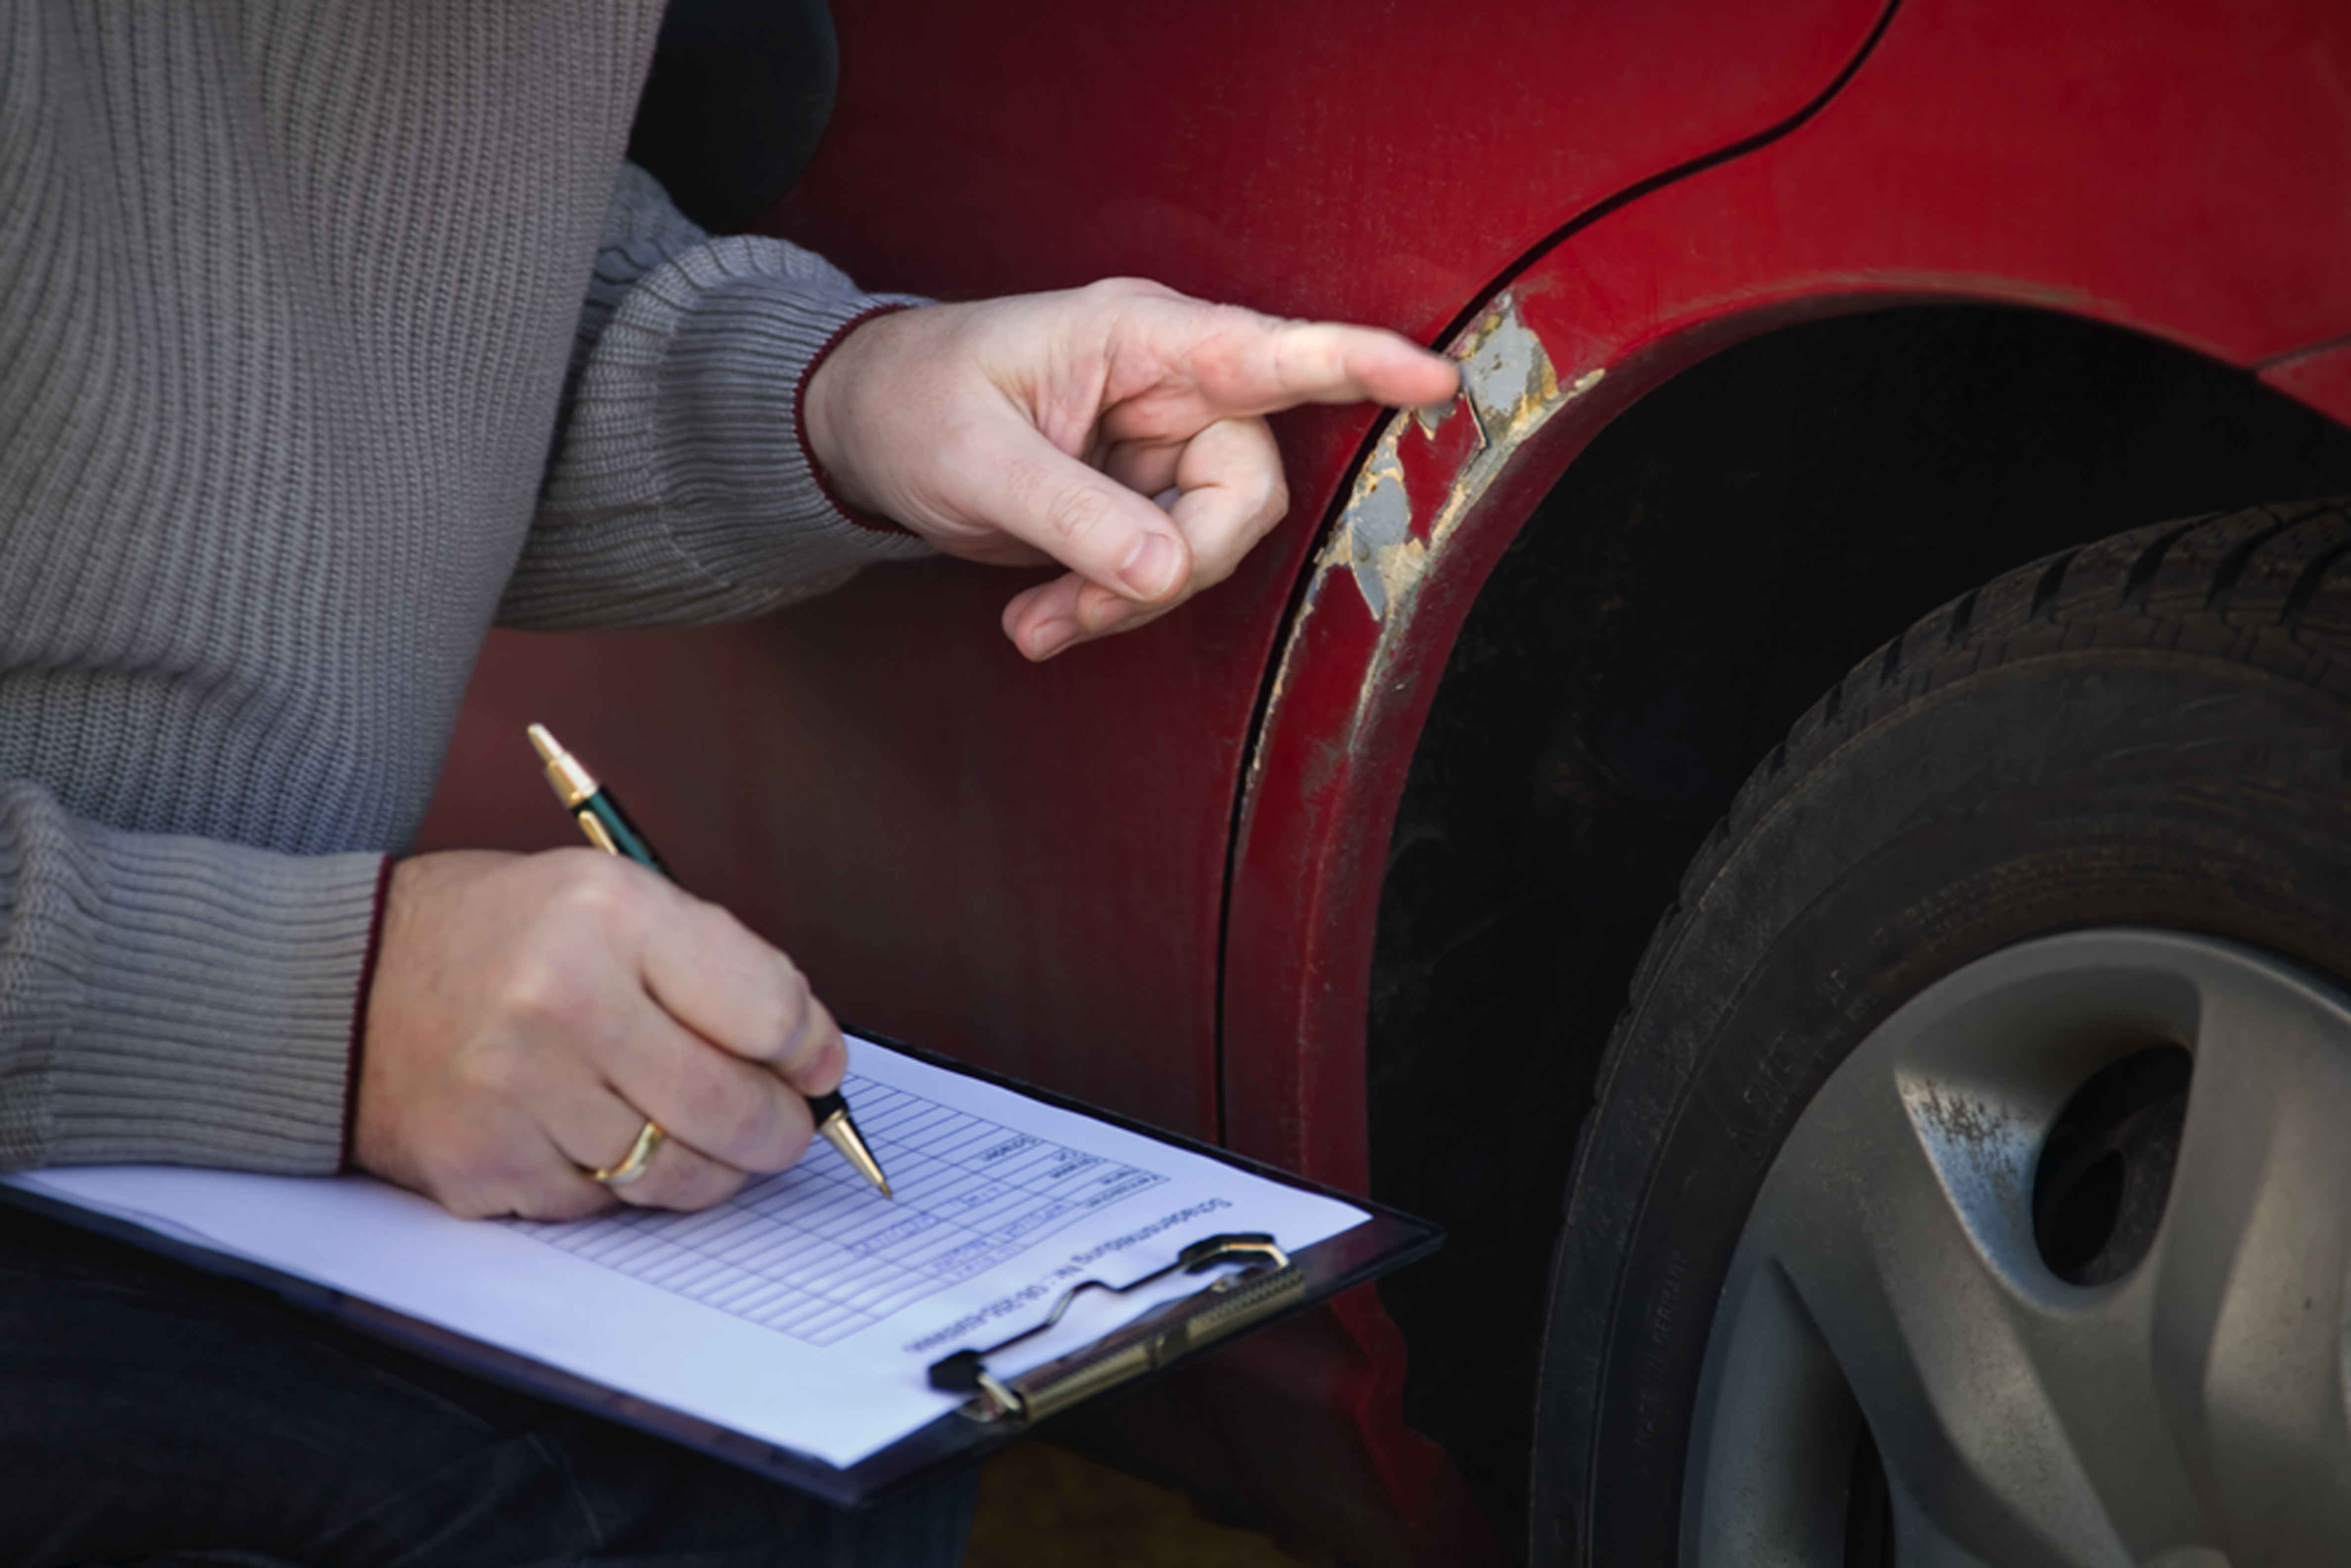
[[[825,1145],[703,1213],[623,1208],[588,1225],[508,1225],[795,1340],[835,1345],[1166,1180],[856,1074],[842,1093],[896,1201]]]

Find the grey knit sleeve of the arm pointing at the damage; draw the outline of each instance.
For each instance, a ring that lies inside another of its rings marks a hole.
[[[555,458],[498,607],[520,628],[752,616],[835,588],[922,541],[853,520],[799,433],[823,353],[877,310],[820,256],[708,237],[623,167]]]

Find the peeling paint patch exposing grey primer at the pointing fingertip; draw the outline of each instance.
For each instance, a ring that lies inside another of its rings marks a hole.
[[[1453,346],[1462,369],[1462,402],[1476,425],[1476,449],[1453,477],[1446,503],[1420,538],[1413,536],[1413,503],[1404,489],[1404,435],[1413,425],[1434,435],[1453,407],[1392,414],[1354,480],[1319,567],[1345,567],[1373,621],[1408,604],[1455,524],[1476,505],[1505,463],[1552,414],[1599,386],[1606,371],[1587,371],[1561,388],[1552,355],[1505,289],[1486,315]]]

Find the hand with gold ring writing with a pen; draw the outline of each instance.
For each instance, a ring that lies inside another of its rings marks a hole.
[[[367,1001],[357,1164],[461,1215],[705,1208],[809,1147],[846,1065],[788,957],[726,910],[595,853],[393,867]],[[647,1173],[602,1187],[654,1119]]]

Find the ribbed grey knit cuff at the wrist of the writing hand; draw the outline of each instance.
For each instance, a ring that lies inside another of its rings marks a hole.
[[[336,1171],[383,858],[85,832],[45,1164]]]

